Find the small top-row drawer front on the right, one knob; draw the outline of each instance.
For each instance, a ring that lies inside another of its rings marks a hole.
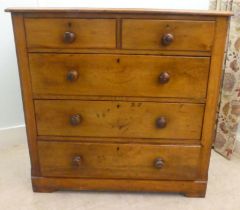
[[[210,51],[214,21],[123,20],[124,49]]]

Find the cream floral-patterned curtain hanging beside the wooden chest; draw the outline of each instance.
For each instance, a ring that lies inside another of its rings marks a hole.
[[[230,159],[240,133],[240,0],[210,0],[211,10],[233,11],[225,52],[215,150]]]

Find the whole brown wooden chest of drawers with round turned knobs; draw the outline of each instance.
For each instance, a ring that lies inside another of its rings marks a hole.
[[[205,196],[230,13],[7,11],[34,191]]]

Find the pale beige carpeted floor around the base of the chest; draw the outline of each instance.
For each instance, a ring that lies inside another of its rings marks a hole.
[[[206,198],[166,193],[33,193],[26,144],[0,148],[0,210],[240,210],[240,158],[212,152]]]

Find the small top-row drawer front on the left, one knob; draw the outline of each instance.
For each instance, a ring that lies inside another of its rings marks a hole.
[[[28,48],[115,48],[113,19],[26,18]]]

